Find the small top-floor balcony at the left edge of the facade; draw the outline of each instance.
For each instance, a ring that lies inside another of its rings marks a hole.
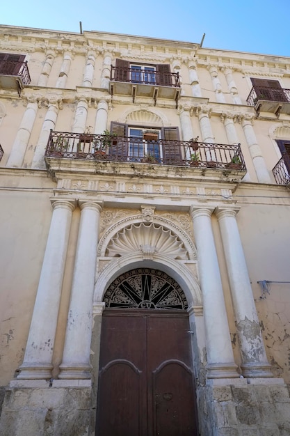
[[[27,61],[12,61],[3,59],[0,61],[0,88],[16,89],[18,94],[25,85],[29,85],[31,78]]]

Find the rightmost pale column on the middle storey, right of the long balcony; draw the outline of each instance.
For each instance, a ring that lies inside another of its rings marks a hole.
[[[264,157],[261,153],[261,148],[257,143],[257,138],[252,127],[252,116],[242,116],[241,125],[243,127],[243,133],[245,134],[245,140],[248,143],[250,155],[252,157],[252,163],[255,166],[258,182],[260,183],[272,183],[271,177],[266,168]]]

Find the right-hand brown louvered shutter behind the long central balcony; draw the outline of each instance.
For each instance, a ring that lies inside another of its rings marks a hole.
[[[178,127],[162,127],[163,162],[166,165],[182,164]]]

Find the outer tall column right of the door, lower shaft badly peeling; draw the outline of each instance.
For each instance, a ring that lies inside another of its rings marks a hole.
[[[216,210],[232,291],[236,330],[241,345],[241,368],[245,377],[273,377],[261,336],[236,213],[237,209],[233,208]]]

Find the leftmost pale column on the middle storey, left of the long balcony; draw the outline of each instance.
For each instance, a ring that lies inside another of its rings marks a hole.
[[[37,111],[38,103],[34,98],[29,98],[6,166],[22,166]]]

